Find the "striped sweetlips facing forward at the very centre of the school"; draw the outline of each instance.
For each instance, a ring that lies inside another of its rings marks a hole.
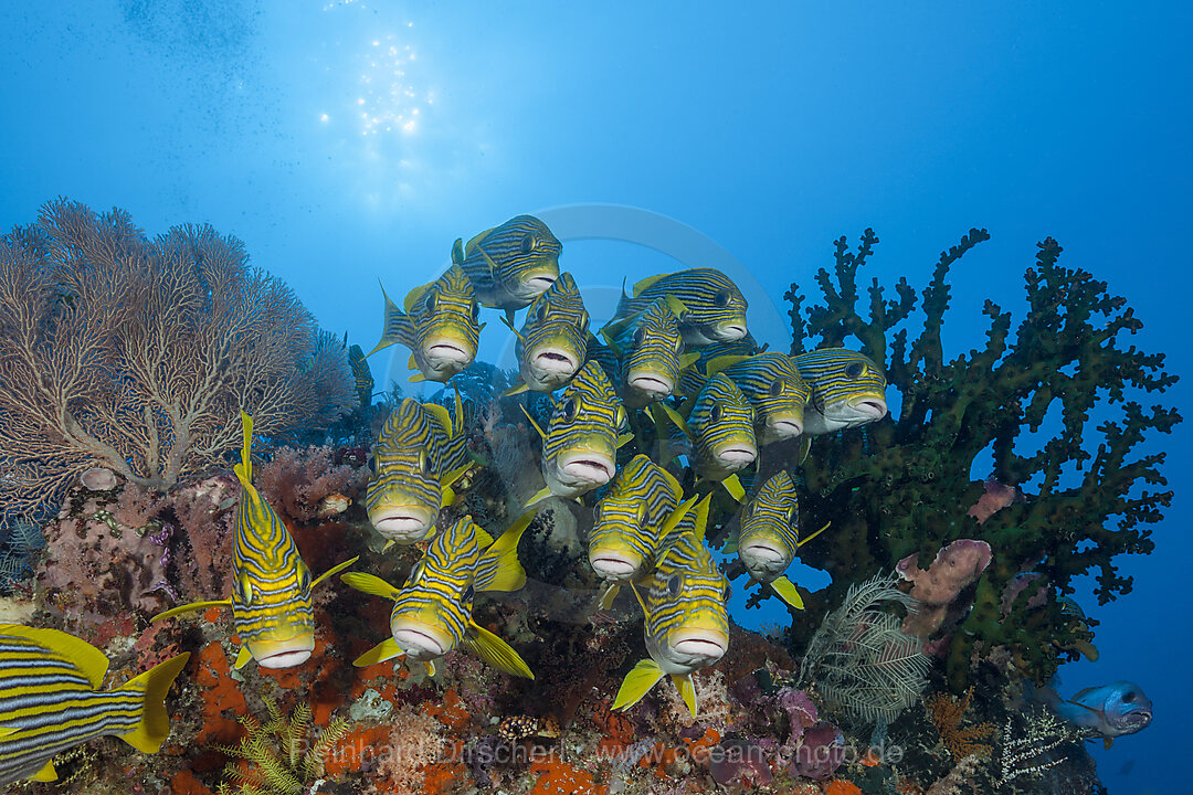
[[[631,439],[623,433],[628,424],[625,409],[595,361],[581,367],[560,393],[546,430],[528,412],[526,417],[543,437],[542,472],[546,482],[527,505],[551,495],[579,497],[605,485],[617,470],[618,447]]]

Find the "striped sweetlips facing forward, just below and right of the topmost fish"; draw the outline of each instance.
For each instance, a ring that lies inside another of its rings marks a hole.
[[[511,327],[513,329],[513,327]],[[576,374],[588,354],[588,312],[570,273],[536,298],[526,311],[518,342],[518,369],[523,383],[506,395],[532,390],[554,392]]]

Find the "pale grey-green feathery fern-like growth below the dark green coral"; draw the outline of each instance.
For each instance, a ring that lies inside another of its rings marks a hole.
[[[923,642],[883,610],[889,602],[916,609],[896,582],[894,573],[878,573],[849,588],[841,607],[824,616],[799,666],[801,687],[815,683],[829,707],[855,721],[889,723],[919,701],[927,682]]]

